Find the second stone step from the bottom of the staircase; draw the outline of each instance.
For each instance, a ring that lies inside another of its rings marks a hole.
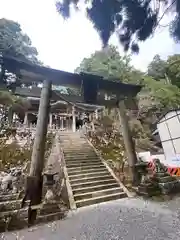
[[[75,199],[75,201],[79,201],[79,200],[83,200],[83,199],[90,199],[90,198],[95,198],[95,197],[100,197],[100,196],[106,196],[106,195],[119,193],[119,192],[123,192],[122,188],[120,188],[120,187],[109,188],[109,189],[103,189],[103,190],[94,191],[94,192],[75,194],[74,199]]]

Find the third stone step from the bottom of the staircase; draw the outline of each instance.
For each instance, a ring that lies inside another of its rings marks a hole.
[[[119,184],[117,182],[114,183],[105,183],[105,184],[101,184],[101,185],[95,185],[95,186],[90,186],[90,187],[83,187],[83,188],[77,188],[75,190],[73,190],[73,194],[82,194],[82,193],[87,193],[87,192],[94,192],[94,191],[100,191],[103,189],[109,189],[109,188],[116,188],[119,187]]]

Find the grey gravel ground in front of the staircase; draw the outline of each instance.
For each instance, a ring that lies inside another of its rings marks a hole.
[[[173,200],[167,204],[121,199],[84,207],[70,212],[65,220],[6,233],[1,239],[178,240],[179,207],[180,199],[179,203]]]

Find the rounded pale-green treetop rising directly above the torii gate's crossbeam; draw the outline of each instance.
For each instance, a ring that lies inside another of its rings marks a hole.
[[[93,73],[105,78],[115,78],[122,82],[140,82],[142,73],[130,64],[130,56],[121,57],[118,49],[112,45],[96,51],[83,59],[76,72]],[[133,78],[132,78],[133,76]]]

